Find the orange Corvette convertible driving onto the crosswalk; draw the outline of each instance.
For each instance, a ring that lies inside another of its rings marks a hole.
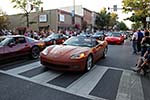
[[[44,66],[67,71],[89,71],[93,64],[107,54],[107,42],[76,36],[62,45],[51,45],[40,53]]]

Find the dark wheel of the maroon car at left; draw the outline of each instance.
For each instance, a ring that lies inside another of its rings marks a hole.
[[[31,58],[32,59],[37,59],[39,58],[39,54],[40,54],[40,49],[38,46],[34,46],[31,49]]]

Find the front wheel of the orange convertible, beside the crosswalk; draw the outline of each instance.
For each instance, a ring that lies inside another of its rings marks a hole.
[[[92,55],[89,55],[86,60],[85,72],[90,71],[92,67],[93,67],[93,57]]]

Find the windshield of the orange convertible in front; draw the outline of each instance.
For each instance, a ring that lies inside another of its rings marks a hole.
[[[68,40],[66,40],[63,44],[72,46],[92,47],[94,44],[94,39],[85,38],[83,36],[71,37]]]

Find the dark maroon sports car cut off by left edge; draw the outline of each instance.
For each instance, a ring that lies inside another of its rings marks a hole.
[[[35,39],[22,36],[11,35],[0,37],[0,61],[13,59],[28,55],[34,59],[39,57],[39,53],[45,48],[45,43]]]

